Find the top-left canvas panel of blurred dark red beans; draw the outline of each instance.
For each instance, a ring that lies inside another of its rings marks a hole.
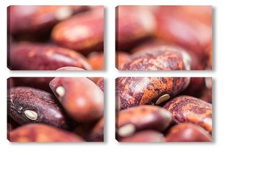
[[[8,68],[104,68],[103,6],[10,6]]]

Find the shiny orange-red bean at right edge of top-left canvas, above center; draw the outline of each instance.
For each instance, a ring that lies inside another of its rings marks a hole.
[[[103,50],[104,8],[83,12],[57,24],[51,33],[59,45],[81,53]]]

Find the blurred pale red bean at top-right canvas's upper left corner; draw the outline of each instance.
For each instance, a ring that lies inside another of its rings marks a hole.
[[[129,50],[153,34],[156,23],[148,7],[116,7],[116,50]]]

